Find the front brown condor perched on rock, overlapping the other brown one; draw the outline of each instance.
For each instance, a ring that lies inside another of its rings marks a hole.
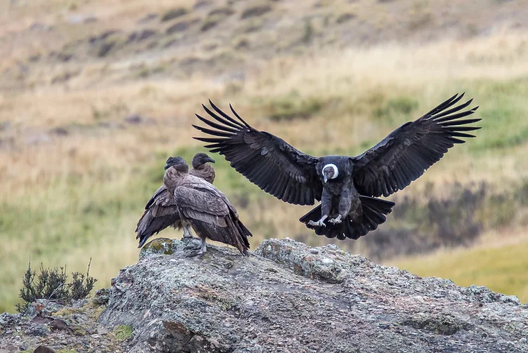
[[[248,254],[248,237],[252,234],[239,220],[227,197],[215,186],[188,172],[181,157],[169,157],[163,184],[174,195],[180,222],[187,232],[190,227],[202,239],[197,255],[206,251],[205,239],[221,241]]]

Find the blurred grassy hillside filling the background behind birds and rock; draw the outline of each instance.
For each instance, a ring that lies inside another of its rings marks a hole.
[[[524,1],[0,6],[0,311],[13,311],[30,256],[68,271],[91,256],[100,287],[137,260],[136,222],[167,156],[202,150],[191,124],[208,99],[305,152],[355,155],[462,91],[480,105],[477,138],[391,197],[376,233],[338,245],[528,301],[522,256],[510,256],[528,244]],[[328,241],[297,222],[309,208],[214,157],[215,184],[255,234],[253,249],[266,237]],[[461,273],[467,263],[488,272]]]

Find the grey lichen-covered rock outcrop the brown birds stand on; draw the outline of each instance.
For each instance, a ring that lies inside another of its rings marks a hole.
[[[211,245],[202,258],[185,258],[182,249],[181,241],[152,241],[77,316],[3,314],[0,352],[42,344],[78,352],[528,352],[528,305],[485,287],[289,239],[263,241],[247,258]],[[58,332],[60,341],[50,340]]]

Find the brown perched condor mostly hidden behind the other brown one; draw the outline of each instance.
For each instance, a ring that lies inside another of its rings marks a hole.
[[[196,153],[193,157],[193,169],[189,171],[189,174],[212,184],[215,181],[215,169],[209,163],[214,162],[215,160],[205,153]],[[180,215],[174,195],[162,185],[145,205],[145,212],[138,221],[136,227],[136,239],[139,239],[138,248],[143,246],[152,234],[157,234],[169,226],[181,229]],[[184,237],[192,237],[187,230],[184,229]]]

